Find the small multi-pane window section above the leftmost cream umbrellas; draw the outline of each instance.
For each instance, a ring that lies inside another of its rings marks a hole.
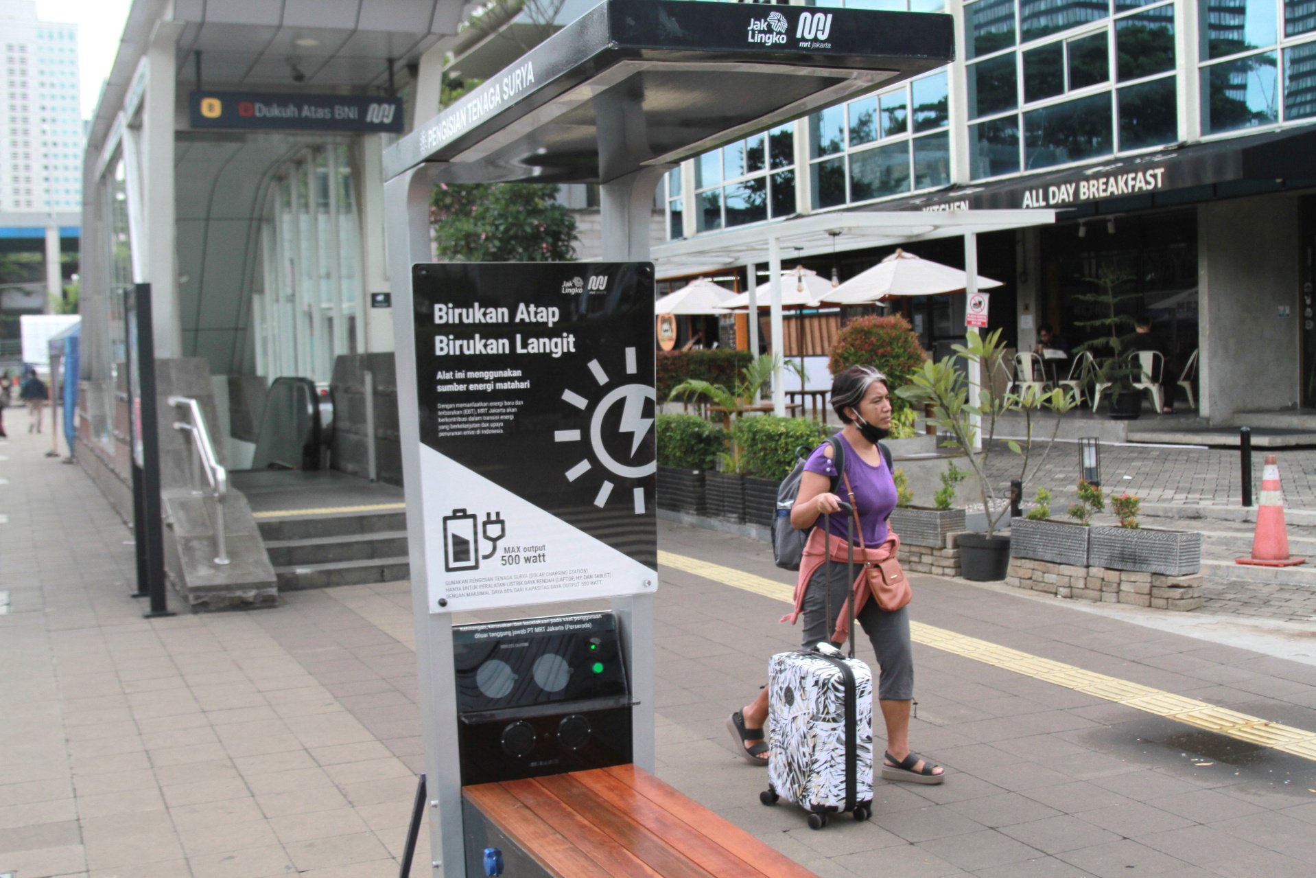
[[[670,192],[669,187],[669,208]],[[794,125],[778,125],[695,159],[695,203],[700,232],[795,213]],[[676,232],[669,225],[670,236]]]

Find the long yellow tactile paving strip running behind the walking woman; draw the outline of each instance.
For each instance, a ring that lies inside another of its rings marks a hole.
[[[671,552],[659,552],[658,563],[786,603],[791,603],[794,596],[794,588],[780,582]],[[1249,716],[1207,702],[1165,692],[1117,677],[1098,674],[1040,656],[1030,656],[1017,649],[976,637],[966,637],[945,628],[934,628],[917,621],[909,624],[909,636],[924,646],[942,649],[1046,683],[1086,692],[1094,698],[1124,704],[1145,713],[1154,713],[1316,762],[1316,732],[1271,723],[1259,716]]]

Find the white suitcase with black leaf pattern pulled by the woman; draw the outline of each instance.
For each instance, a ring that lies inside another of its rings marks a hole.
[[[759,800],[797,803],[812,829],[825,827],[829,813],[849,811],[855,820],[873,813],[873,673],[854,657],[854,606],[846,603],[849,658],[819,644],[778,653],[767,666],[769,787]],[[830,600],[826,617],[833,619]]]

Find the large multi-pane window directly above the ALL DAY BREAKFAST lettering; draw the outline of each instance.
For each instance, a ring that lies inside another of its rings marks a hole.
[[[965,32],[975,180],[1179,137],[1173,3],[976,0]]]

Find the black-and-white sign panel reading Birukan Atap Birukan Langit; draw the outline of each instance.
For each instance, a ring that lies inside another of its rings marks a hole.
[[[653,276],[413,267],[432,611],[655,587]]]

